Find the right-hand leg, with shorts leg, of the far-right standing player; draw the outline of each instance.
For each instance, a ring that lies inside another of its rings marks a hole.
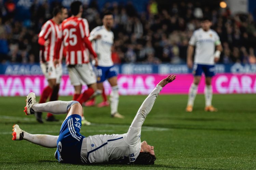
[[[214,66],[206,65],[204,68],[205,74],[205,87],[204,87],[204,98],[205,98],[205,111],[217,112],[218,109],[212,106],[212,77],[214,76]]]

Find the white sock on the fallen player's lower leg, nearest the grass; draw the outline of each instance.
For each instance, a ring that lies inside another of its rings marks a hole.
[[[57,140],[59,136],[53,135],[41,135],[41,134],[30,134],[23,131],[23,139],[30,141],[34,144],[40,145],[46,148],[57,148]]]

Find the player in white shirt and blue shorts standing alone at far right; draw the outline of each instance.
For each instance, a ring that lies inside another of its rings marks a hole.
[[[194,31],[189,40],[187,50],[187,66],[193,67],[194,80],[189,88],[187,112],[193,111],[193,105],[197,94],[198,84],[201,79],[202,72],[205,75],[205,111],[216,112],[217,109],[212,106],[212,77],[214,76],[214,64],[219,61],[222,51],[221,41],[218,34],[210,29],[212,26],[211,19],[204,17],[201,20],[201,28]],[[194,66],[192,55],[196,46]],[[216,46],[216,51],[215,50]]]

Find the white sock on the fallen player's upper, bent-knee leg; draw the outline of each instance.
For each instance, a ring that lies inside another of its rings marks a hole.
[[[73,105],[79,103],[77,101],[52,101],[47,103],[34,104],[32,109],[35,112],[49,112],[54,115],[66,114],[68,109]]]

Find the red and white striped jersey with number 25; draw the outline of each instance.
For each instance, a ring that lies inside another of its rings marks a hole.
[[[88,40],[89,25],[86,19],[69,17],[61,23],[56,45],[56,58],[59,57],[60,44],[66,48],[66,64],[76,65],[89,62],[89,52],[97,57]],[[89,51],[88,51],[89,50]]]

